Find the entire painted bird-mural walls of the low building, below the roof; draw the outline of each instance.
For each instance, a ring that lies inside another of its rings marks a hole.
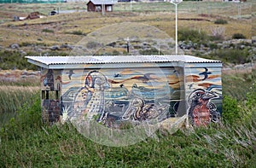
[[[187,113],[191,125],[220,122],[221,69],[189,65],[184,69],[43,69],[43,119],[94,119],[119,127],[124,122],[164,122]]]

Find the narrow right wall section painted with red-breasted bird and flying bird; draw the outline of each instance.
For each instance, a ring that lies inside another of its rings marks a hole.
[[[220,122],[222,113],[221,70],[218,67],[189,67],[186,72],[188,115],[191,125]]]

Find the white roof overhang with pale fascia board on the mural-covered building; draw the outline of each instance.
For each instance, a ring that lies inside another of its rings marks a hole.
[[[191,63],[211,63],[222,67],[221,61],[191,55],[104,55],[104,56],[26,56],[27,61],[48,69],[121,68],[121,67],[189,67]]]

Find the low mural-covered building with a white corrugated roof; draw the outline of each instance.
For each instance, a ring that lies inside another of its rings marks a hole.
[[[26,56],[41,67],[44,121],[218,122],[222,62],[191,55]],[[108,123],[108,124],[107,124]]]

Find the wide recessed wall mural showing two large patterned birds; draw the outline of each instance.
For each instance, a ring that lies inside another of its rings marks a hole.
[[[145,73],[146,72],[146,73]],[[62,72],[64,119],[113,124],[160,122],[177,117],[180,77],[175,68],[125,68]]]

